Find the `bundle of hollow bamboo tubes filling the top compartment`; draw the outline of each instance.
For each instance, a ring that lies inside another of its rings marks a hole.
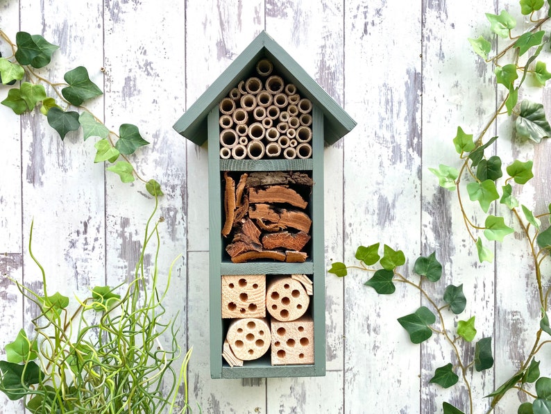
[[[312,102],[261,59],[219,103],[220,158],[312,158]]]

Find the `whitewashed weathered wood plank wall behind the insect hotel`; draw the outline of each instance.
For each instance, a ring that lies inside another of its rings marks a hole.
[[[418,293],[400,287],[379,297],[363,287],[367,277],[359,273],[326,279],[325,377],[210,379],[207,149],[171,126],[266,30],[358,122],[325,149],[327,267],[332,260],[353,262],[358,245],[379,241],[402,249],[409,267],[436,250],[444,265],[438,289],[464,283],[467,315],[476,315],[480,336],[494,338],[495,368],[473,375],[474,413],[486,411],[483,396],[514,372],[508,361],[523,358],[532,340],[523,329],[537,326],[529,265],[516,250],[525,246],[511,238],[495,247],[495,265],[480,265],[456,199],[427,168],[454,163],[457,126],[480,131],[493,112],[492,68],[466,39],[488,33],[484,13],[509,6],[518,10],[512,0],[0,1],[0,27],[10,37],[22,30],[60,45],[46,74],[61,80],[68,69],[87,67],[105,92],[90,106],[94,113],[112,129],[136,124],[151,142],[133,162],[166,194],[160,208],[167,219],[165,267],[183,254],[168,301],[172,313],[180,311],[181,345],[194,346],[192,405],[213,414],[438,413],[442,401],[466,409],[463,386],[427,384],[434,368],[448,362],[449,347],[438,339],[412,345],[396,322],[423,303]],[[549,105],[550,91],[534,93]],[[5,95],[2,88],[0,100]],[[138,185],[122,184],[92,163],[92,140],[70,134],[61,142],[40,113],[17,117],[2,107],[0,125],[3,349],[31,319],[6,276],[40,289],[28,256],[31,220],[33,251],[50,289],[71,296],[130,277],[152,201]],[[505,135],[509,126],[494,129]],[[537,174],[549,176],[550,151],[548,144],[526,144],[515,154],[534,158]],[[545,181],[532,194],[523,203],[539,210],[551,198]],[[21,412],[17,403],[0,401],[2,413]],[[507,405],[496,412],[516,412]]]

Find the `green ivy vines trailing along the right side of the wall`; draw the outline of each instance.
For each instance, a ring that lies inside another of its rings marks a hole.
[[[495,81],[500,85],[502,100],[497,110],[476,135],[466,133],[459,126],[452,144],[459,154],[456,165],[439,165],[438,168],[430,168],[438,179],[441,187],[457,194],[457,204],[461,216],[477,249],[480,262],[493,260],[493,252],[488,243],[503,242],[513,233],[527,242],[529,263],[527,267],[533,269],[532,277],[536,282],[541,319],[539,329],[534,332],[534,342],[525,352],[523,361],[514,361],[516,372],[507,381],[486,397],[489,398],[488,413],[510,390],[523,392],[529,401],[518,406],[519,414],[548,414],[551,412],[551,378],[541,376],[539,365],[541,350],[551,343],[551,327],[548,316],[549,297],[551,288],[543,275],[543,263],[551,251],[551,226],[548,220],[551,215],[551,205],[548,210],[536,213],[531,206],[519,203],[518,194],[522,191],[522,185],[534,178],[532,160],[517,159],[505,166],[504,176],[502,159],[510,158],[512,154],[504,150],[510,148],[510,144],[500,145],[499,140],[507,139],[514,144],[526,144],[532,142],[539,144],[545,138],[551,136],[551,126],[545,117],[543,104],[528,99],[519,102],[523,96],[523,90],[527,81],[543,86],[551,78],[546,64],[539,60],[544,48],[549,48],[549,38],[543,26],[551,17],[551,0],[520,0],[520,12],[529,16],[530,26],[521,33],[516,33],[517,20],[507,10],[502,10],[499,15],[486,13],[490,29],[494,36],[507,39],[507,44],[495,54],[492,51],[492,42],[483,36],[477,39],[469,39],[475,53],[480,55],[486,63],[493,65]],[[543,17],[538,17],[543,15]],[[497,43],[497,42],[495,42]],[[505,88],[505,89],[502,89]],[[492,126],[498,119],[505,118],[506,122],[514,125],[513,137],[490,137]],[[451,146],[451,145],[450,145]],[[498,152],[502,151],[502,152]],[[464,200],[468,199],[478,204],[480,210],[469,213]],[[505,211],[503,211],[505,210]],[[482,215],[482,213],[484,215]],[[484,225],[477,223],[484,222]],[[517,231],[515,231],[517,229]],[[448,388],[455,385],[461,378],[466,388],[466,406],[468,413],[473,413],[473,389],[467,375],[469,370],[482,371],[493,366],[491,354],[491,338],[480,338],[475,342],[474,352],[460,352],[473,342],[476,337],[475,316],[466,317],[457,322],[455,329],[446,327],[446,312],[459,315],[464,312],[466,297],[463,293],[463,285],[448,285],[439,297],[430,295],[434,289],[425,289],[426,281],[435,282],[441,277],[442,267],[436,254],[420,257],[414,265],[417,279],[407,279],[399,271],[399,267],[405,264],[405,256],[402,251],[394,251],[384,246],[382,258],[379,256],[379,244],[368,247],[360,246],[356,251],[356,258],[360,261],[357,266],[346,266],[344,263],[332,263],[329,272],[337,276],[345,276],[348,269],[359,269],[373,273],[365,285],[374,288],[381,295],[389,295],[396,290],[396,283],[405,283],[410,288],[421,292],[421,297],[426,306],[421,306],[413,313],[398,318],[398,323],[409,333],[409,338],[414,343],[421,343],[431,338],[436,333],[443,336],[452,349],[455,361],[450,361],[443,367],[436,367],[430,383]],[[380,268],[373,267],[379,265]],[[532,292],[529,292],[529,295]],[[459,343],[461,345],[459,346]],[[471,361],[465,361],[464,355],[473,355]],[[522,354],[522,353],[520,353]],[[536,359],[536,358],[539,358]],[[529,384],[535,383],[534,386]],[[451,404],[443,403],[443,412],[446,414],[462,413],[459,408]]]

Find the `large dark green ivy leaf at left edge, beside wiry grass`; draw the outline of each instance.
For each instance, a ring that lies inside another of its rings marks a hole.
[[[15,400],[27,395],[29,386],[40,383],[44,374],[33,361],[26,365],[0,361],[0,391]]]

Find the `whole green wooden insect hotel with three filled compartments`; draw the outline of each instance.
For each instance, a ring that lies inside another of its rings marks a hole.
[[[325,374],[323,147],[354,126],[266,32],[174,125],[208,146],[212,378]]]

